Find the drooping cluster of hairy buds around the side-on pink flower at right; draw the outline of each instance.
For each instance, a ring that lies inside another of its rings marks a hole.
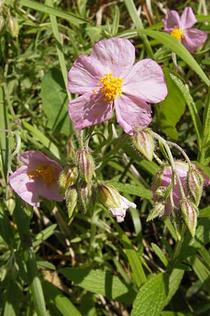
[[[172,223],[179,235],[180,218],[182,216],[191,235],[195,236],[197,225],[197,206],[202,197],[204,177],[193,164],[174,161],[175,181],[172,182],[172,167],[162,164],[155,176],[152,192],[155,205],[147,220],[158,216],[172,216]],[[179,178],[178,178],[179,177]]]

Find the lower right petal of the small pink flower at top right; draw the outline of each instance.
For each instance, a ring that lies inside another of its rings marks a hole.
[[[186,29],[181,43],[192,53],[197,51],[197,48],[200,46],[203,46],[206,40],[207,33],[200,31],[200,29]]]

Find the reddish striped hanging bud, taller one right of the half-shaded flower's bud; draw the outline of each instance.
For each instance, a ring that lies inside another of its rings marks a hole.
[[[94,173],[94,161],[87,150],[78,150],[76,156],[80,176],[89,185]]]

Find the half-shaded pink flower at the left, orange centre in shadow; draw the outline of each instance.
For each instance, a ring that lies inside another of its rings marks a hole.
[[[9,183],[25,202],[31,206],[39,206],[39,196],[62,201],[64,197],[59,194],[58,185],[62,166],[42,152],[34,150],[21,154],[20,160],[25,165],[9,177]]]

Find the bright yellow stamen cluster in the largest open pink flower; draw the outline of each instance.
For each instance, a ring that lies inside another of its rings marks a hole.
[[[102,88],[100,88],[99,92],[104,94],[104,101],[110,100],[109,103],[113,103],[113,99],[116,99],[117,96],[121,96],[123,93],[122,78],[113,78],[113,74],[104,74],[104,77],[100,78],[101,83],[103,84]],[[97,86],[100,86],[98,83]],[[93,90],[94,93],[97,93],[97,90]]]

